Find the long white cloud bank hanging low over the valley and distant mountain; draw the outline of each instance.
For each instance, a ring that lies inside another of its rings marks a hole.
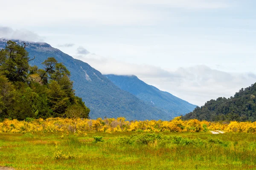
[[[229,98],[239,89],[256,82],[256,75],[252,72],[223,72],[205,65],[168,71],[161,67],[125,63],[92,54],[75,57],[89,63],[102,74],[137,75],[145,83],[199,106],[218,97]]]

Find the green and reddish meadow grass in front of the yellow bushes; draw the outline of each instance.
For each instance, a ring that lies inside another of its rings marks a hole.
[[[204,141],[204,144],[162,145],[120,141],[144,133],[88,133],[85,137],[61,133],[0,133],[0,166],[17,170],[249,170],[256,169],[256,134],[162,133]],[[93,142],[93,136],[104,142]],[[217,138],[223,143],[212,143]],[[74,158],[55,159],[56,145]]]

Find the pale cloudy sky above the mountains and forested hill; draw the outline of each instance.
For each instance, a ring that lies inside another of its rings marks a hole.
[[[198,106],[256,82],[254,0],[0,0],[0,37],[43,41],[102,74]]]

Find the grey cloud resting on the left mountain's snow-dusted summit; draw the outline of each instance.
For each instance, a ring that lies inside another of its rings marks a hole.
[[[0,38],[17,39],[25,41],[43,41],[43,37],[26,29],[12,29],[0,26]]]

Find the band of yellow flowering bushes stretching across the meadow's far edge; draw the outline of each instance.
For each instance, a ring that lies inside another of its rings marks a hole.
[[[74,132],[76,125],[76,135],[86,136],[86,132],[202,132],[206,130],[224,130],[227,132],[256,133],[256,122],[228,123],[198,121],[196,119],[183,121],[180,117],[172,121],[125,121],[125,118],[98,118],[82,119],[76,122],[69,118],[48,118],[36,119],[33,121],[17,121],[5,119],[0,122],[0,133],[55,133]]]

